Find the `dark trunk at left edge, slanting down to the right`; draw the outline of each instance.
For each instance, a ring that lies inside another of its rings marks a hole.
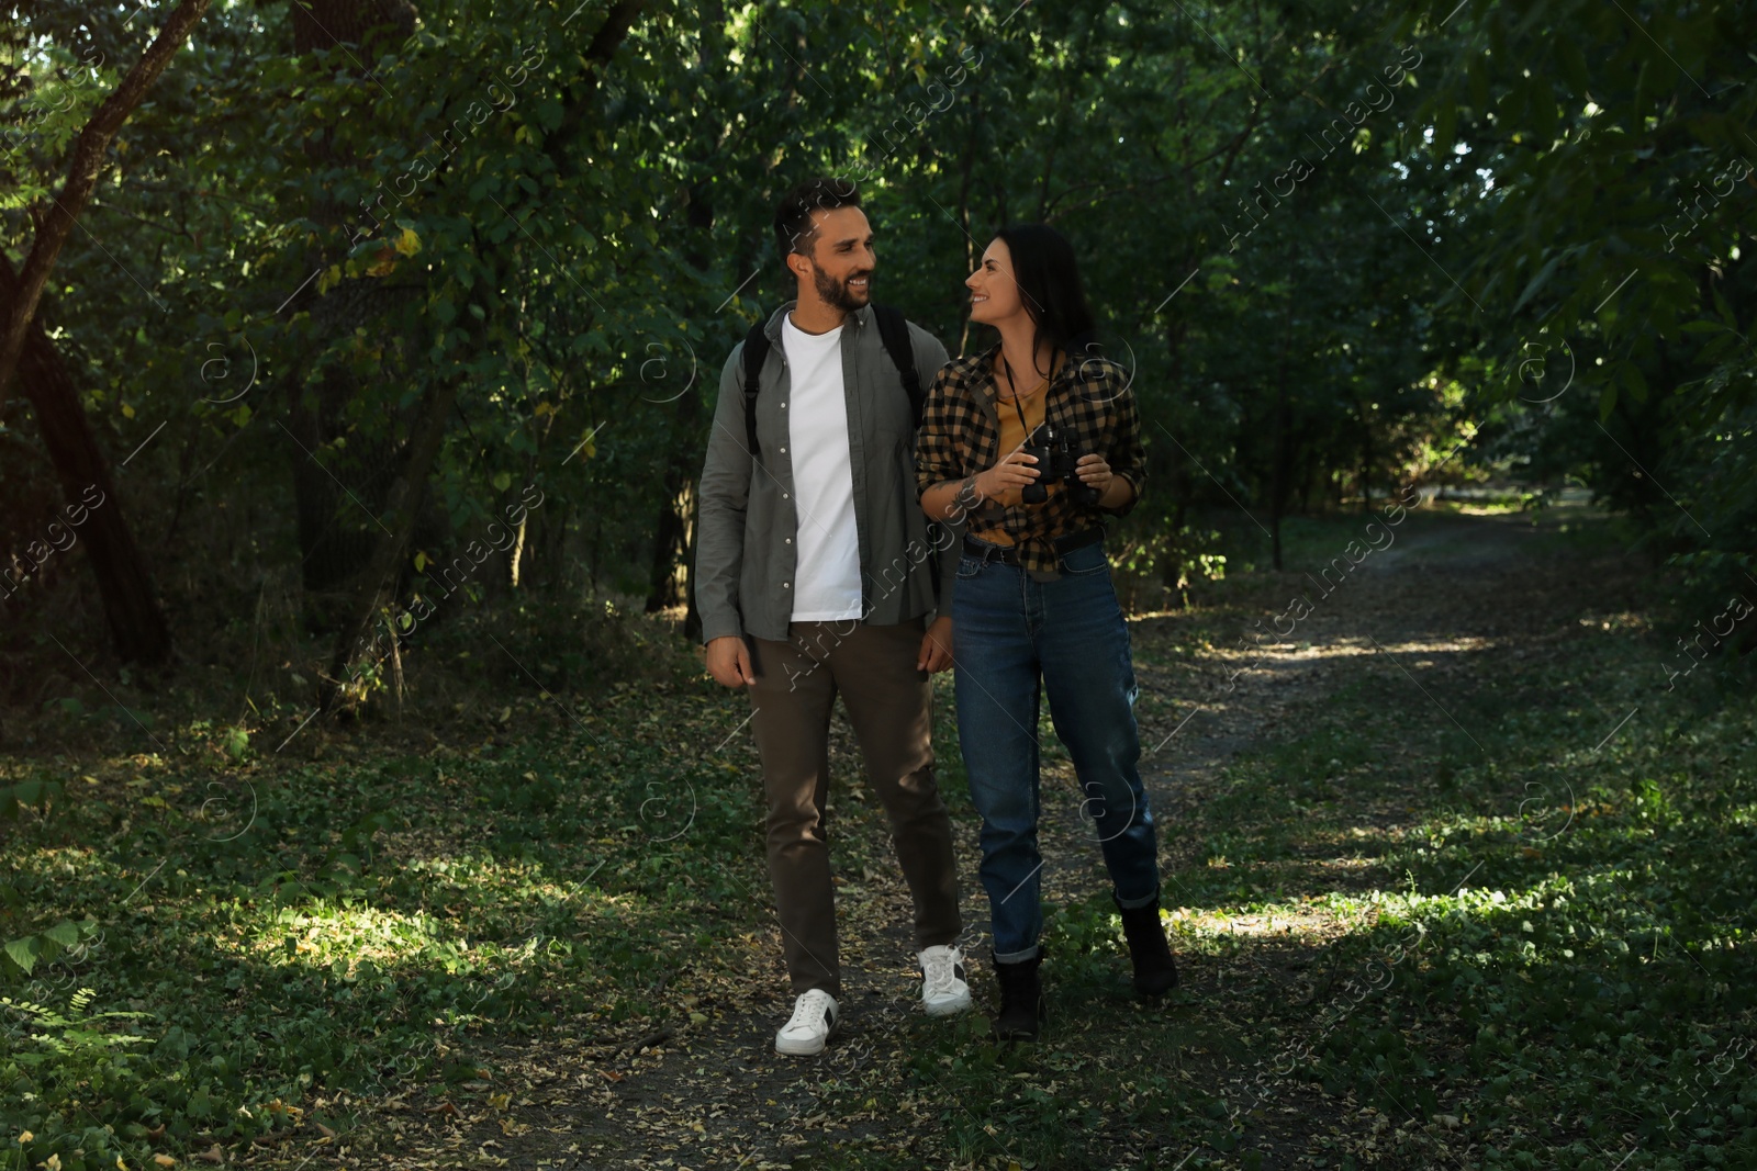
[[[0,251],[0,307],[9,314],[18,304],[18,291],[19,277]],[[67,502],[86,507],[86,520],[77,528],[79,542],[98,579],[104,620],[118,657],[123,662],[163,664],[170,657],[170,629],[158,607],[153,578],[141,560],[141,548],[121,507],[121,493],[98,451],[74,379],[37,320],[32,320],[25,335],[18,374]],[[91,500],[102,502],[93,506]]]

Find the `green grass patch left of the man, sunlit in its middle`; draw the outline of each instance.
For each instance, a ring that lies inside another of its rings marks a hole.
[[[137,1043],[0,1017],[0,1134],[72,1171],[183,1155],[288,1127],[323,1087],[478,1081],[483,1034],[673,1017],[659,976],[736,964],[766,881],[745,746],[675,751],[724,737],[726,700],[655,693],[583,727],[522,704],[501,748],[214,767],[172,737],[95,783],[18,769],[7,790],[46,797],[7,823],[5,934],[91,929],[32,978],[14,964],[12,999],[65,1011],[88,987],[86,1011],[146,1017]]]

